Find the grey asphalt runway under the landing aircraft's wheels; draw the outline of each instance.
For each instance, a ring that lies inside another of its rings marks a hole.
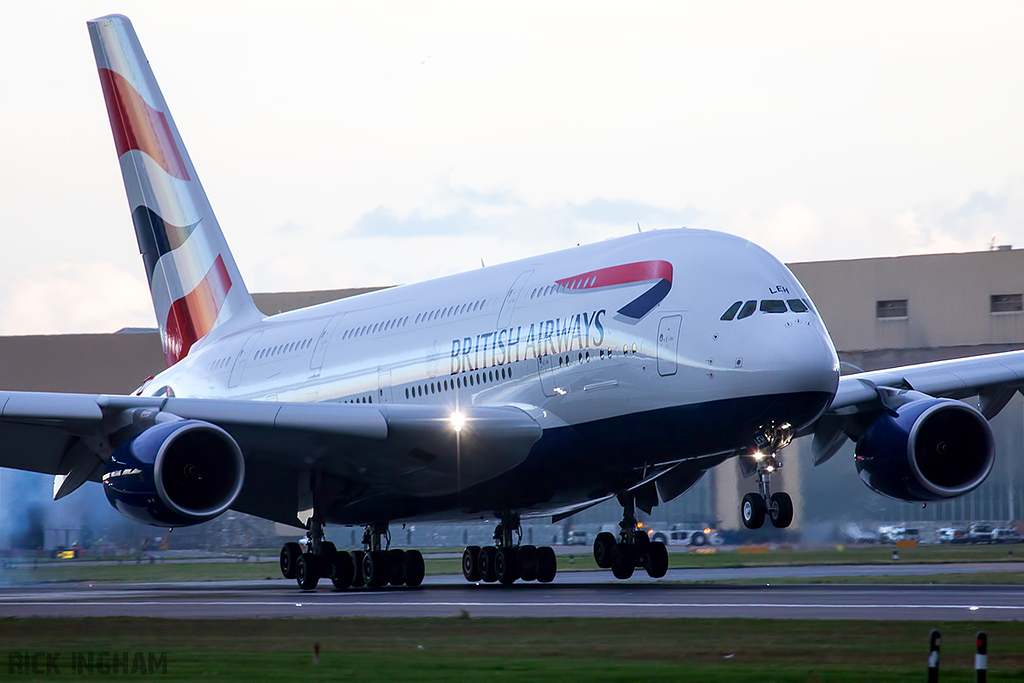
[[[1016,564],[1016,563],[1014,563]],[[998,567],[998,568],[995,568]],[[700,570],[757,572],[764,586],[676,583],[687,569],[662,581],[617,582],[605,572],[562,572],[553,584],[510,588],[467,584],[462,577],[428,577],[419,589],[336,592],[330,582],[300,591],[285,580],[178,584],[35,585],[0,588],[4,616],[160,616],[170,618],[331,616],[617,616],[755,617],[922,621],[1024,620],[1024,588],[951,585],[785,585],[772,575],[815,571],[895,573],[893,569],[962,573],[1014,570],[1004,563],[860,567],[757,567]],[[712,577],[709,574],[717,574]],[[820,574],[819,574],[820,575]],[[842,575],[842,574],[829,574]],[[752,577],[745,577],[752,578]]]

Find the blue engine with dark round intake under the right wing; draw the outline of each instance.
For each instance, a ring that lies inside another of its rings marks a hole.
[[[857,440],[860,478],[883,496],[942,501],[981,485],[995,462],[988,421],[967,403],[921,398],[885,414]]]

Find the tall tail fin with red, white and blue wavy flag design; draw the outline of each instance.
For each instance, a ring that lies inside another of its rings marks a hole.
[[[168,367],[263,315],[234,264],[128,17],[88,22]]]

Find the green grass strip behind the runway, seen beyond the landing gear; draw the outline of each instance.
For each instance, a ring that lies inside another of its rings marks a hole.
[[[1009,553],[1018,549],[1016,556]],[[433,549],[430,549],[432,552]],[[724,568],[757,566],[792,566],[803,564],[934,564],[950,562],[1006,562],[1024,560],[1024,547],[1016,546],[920,546],[903,548],[899,560],[892,559],[891,546],[824,548],[815,550],[793,550],[779,548],[767,553],[740,553],[735,550],[714,554],[674,552],[669,556],[670,568]],[[558,556],[559,571],[597,570],[593,554],[589,548],[579,553]],[[426,556],[428,575],[458,574],[462,563],[456,558],[436,559]],[[190,563],[135,563],[128,560],[123,564],[82,565],[75,560],[45,561],[36,567],[18,567],[0,571],[0,582],[11,584],[53,583],[53,582],[180,582],[180,581],[252,581],[278,579],[281,572],[275,562],[203,562]],[[952,579],[954,578],[955,579]],[[796,580],[776,580],[786,583]],[[741,583],[733,582],[729,583]],[[760,583],[753,581],[752,583]],[[939,574],[919,577],[837,577],[799,580],[799,583],[972,583],[972,584],[1024,584],[1024,575],[1018,571],[997,571],[977,574]]]

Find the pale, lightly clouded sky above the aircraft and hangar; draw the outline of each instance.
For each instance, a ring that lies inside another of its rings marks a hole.
[[[5,3],[0,334],[156,327],[85,22],[128,15],[253,292],[642,229],[1024,248],[1024,3]]]

